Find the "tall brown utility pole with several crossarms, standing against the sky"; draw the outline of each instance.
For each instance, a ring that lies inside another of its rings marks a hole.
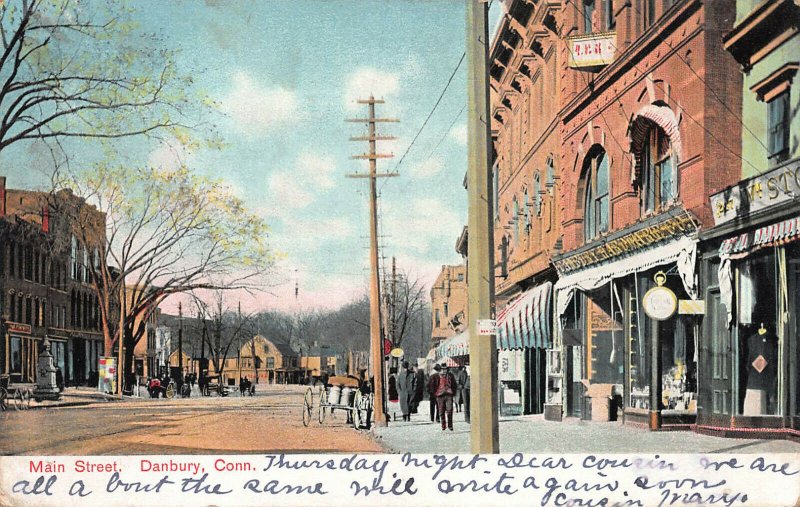
[[[381,337],[381,316],[380,316],[380,287],[378,274],[378,191],[377,179],[379,177],[397,176],[395,173],[378,173],[377,161],[379,158],[392,158],[394,155],[378,153],[376,141],[395,139],[391,136],[379,136],[375,132],[375,124],[378,122],[398,122],[393,118],[376,118],[375,104],[383,104],[384,101],[376,99],[370,95],[367,100],[359,100],[359,104],[367,104],[369,108],[368,118],[348,119],[353,123],[366,123],[369,131],[366,136],[351,137],[351,141],[368,141],[369,153],[354,155],[351,158],[369,160],[369,174],[348,174],[349,178],[369,178],[369,236],[370,236],[370,287],[369,287],[369,334],[370,348],[372,356],[372,375],[375,379],[375,424],[386,426],[386,403],[383,388],[383,340]]]

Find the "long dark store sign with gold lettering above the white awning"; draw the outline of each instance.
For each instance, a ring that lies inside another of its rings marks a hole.
[[[558,260],[555,262],[556,269],[563,275],[637,250],[644,250],[666,239],[677,238],[696,230],[697,226],[689,215],[679,215],[613,239],[586,252]]]

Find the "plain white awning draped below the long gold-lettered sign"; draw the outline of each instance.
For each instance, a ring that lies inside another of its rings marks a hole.
[[[556,309],[559,315],[563,315],[567,311],[567,306],[576,289],[588,292],[602,287],[614,278],[621,278],[673,262],[677,263],[678,273],[686,293],[694,299],[697,297],[696,261],[697,240],[684,236],[666,245],[642,250],[592,268],[575,271],[559,278],[556,282]]]

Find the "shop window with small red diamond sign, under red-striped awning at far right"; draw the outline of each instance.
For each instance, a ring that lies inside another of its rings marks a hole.
[[[774,251],[738,266],[738,413],[778,414],[778,273]]]

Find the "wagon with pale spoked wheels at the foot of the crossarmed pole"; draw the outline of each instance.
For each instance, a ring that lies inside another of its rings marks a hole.
[[[373,395],[366,389],[365,381],[351,376],[334,376],[319,389],[317,397],[317,418],[319,423],[325,421],[328,412],[333,416],[334,410],[347,412],[347,421],[355,429],[366,425],[373,406]],[[306,389],[303,396],[303,426],[311,423],[314,409],[314,391]]]

